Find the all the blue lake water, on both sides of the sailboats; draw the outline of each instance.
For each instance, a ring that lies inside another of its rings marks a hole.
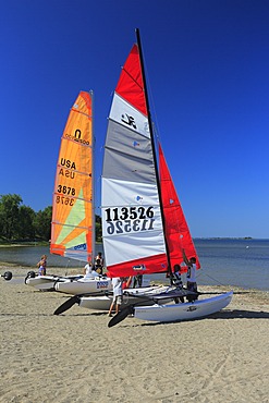
[[[269,291],[269,240],[195,240],[195,246],[201,264],[198,284]],[[96,252],[99,251],[102,252],[102,246],[98,244]],[[48,256],[48,268],[85,266],[83,261],[50,255],[46,246],[0,247],[0,261],[36,268],[44,254]],[[164,274],[150,276],[150,280],[164,279]]]

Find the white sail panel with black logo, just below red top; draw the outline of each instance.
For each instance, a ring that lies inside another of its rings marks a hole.
[[[149,138],[148,119],[114,93],[109,119]]]

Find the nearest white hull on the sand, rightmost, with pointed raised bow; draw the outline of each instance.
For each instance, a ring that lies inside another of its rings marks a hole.
[[[196,319],[221,310],[230,304],[233,292],[229,292],[193,303],[136,306],[134,307],[134,317],[161,322]]]

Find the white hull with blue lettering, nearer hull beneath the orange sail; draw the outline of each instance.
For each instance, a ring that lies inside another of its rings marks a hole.
[[[78,279],[74,281],[59,281],[54,283],[54,290],[66,294],[87,294],[112,290],[110,278]]]

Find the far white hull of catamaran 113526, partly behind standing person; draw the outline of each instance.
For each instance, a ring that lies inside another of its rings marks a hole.
[[[154,301],[150,302],[145,297],[143,302],[143,296],[152,296],[160,292],[166,292],[167,286],[146,286],[139,289],[127,289],[123,293],[123,303],[121,308],[124,308],[129,305],[138,304],[139,305],[152,305]],[[112,303],[113,295],[100,295],[100,296],[82,296],[78,303],[78,306],[87,309],[97,309],[97,310],[109,310]]]

